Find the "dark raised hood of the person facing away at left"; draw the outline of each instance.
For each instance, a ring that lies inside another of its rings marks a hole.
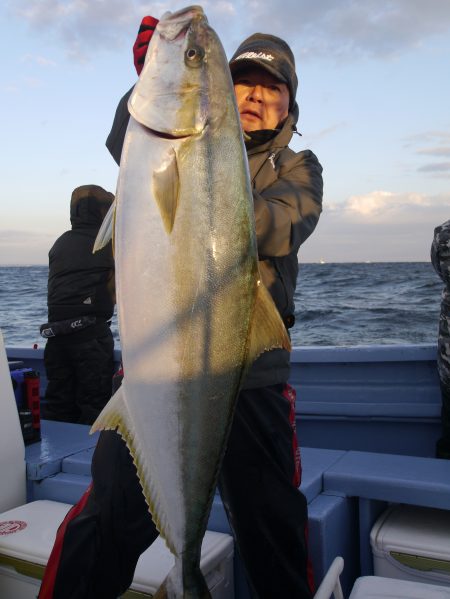
[[[100,227],[113,201],[114,194],[99,185],[77,187],[70,201],[72,228]]]

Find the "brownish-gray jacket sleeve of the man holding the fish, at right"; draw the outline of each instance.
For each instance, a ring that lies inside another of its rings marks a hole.
[[[322,167],[310,150],[300,152],[264,191],[253,190],[260,256],[297,252],[322,211]]]

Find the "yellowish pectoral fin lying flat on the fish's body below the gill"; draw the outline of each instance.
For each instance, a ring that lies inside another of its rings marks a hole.
[[[171,233],[180,189],[177,156],[173,148],[166,153],[161,166],[153,172],[152,181],[153,195],[161,212],[164,229]]]

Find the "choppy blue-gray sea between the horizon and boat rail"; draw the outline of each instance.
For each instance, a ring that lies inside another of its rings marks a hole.
[[[6,345],[40,347],[46,266],[0,267]],[[435,343],[443,284],[426,262],[301,264],[294,346]],[[117,319],[112,330],[120,346]]]

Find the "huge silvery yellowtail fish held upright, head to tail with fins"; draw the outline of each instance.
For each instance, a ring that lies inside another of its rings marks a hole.
[[[203,598],[201,543],[238,392],[255,357],[289,338],[259,280],[233,84],[200,7],[161,19],[129,111],[107,221],[125,378],[93,430],[125,439],[175,556],[156,597]]]

